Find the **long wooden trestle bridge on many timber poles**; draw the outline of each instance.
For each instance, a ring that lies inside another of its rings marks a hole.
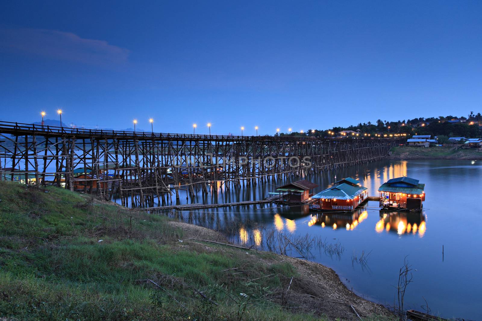
[[[127,132],[0,121],[0,179],[154,207],[193,195],[380,160],[397,139]]]

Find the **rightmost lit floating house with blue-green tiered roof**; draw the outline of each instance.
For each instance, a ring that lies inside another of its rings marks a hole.
[[[380,192],[380,207],[383,209],[421,210],[425,201],[425,184],[409,177],[398,177],[383,183]]]

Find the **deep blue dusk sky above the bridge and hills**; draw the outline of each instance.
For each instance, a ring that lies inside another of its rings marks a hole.
[[[482,112],[481,1],[3,1],[0,119],[262,134]]]

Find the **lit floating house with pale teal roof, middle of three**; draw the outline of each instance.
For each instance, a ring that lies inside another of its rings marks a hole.
[[[323,211],[351,212],[367,198],[367,188],[360,181],[347,177],[338,180],[332,187],[312,196],[311,208]]]

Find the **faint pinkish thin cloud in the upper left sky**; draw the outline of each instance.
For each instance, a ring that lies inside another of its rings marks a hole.
[[[0,50],[27,52],[84,64],[122,64],[130,51],[105,40],[47,29],[0,29]]]

